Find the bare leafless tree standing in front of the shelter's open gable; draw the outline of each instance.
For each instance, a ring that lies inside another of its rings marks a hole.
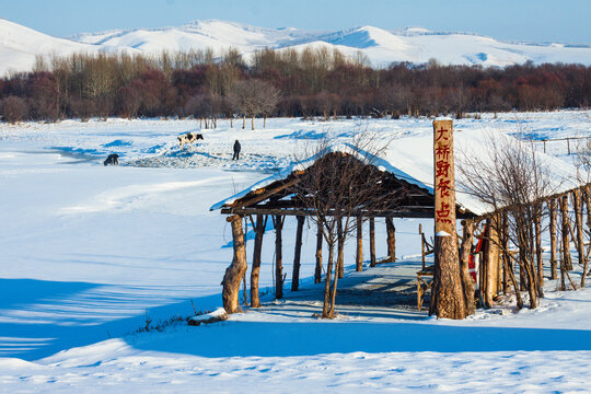
[[[362,223],[359,218],[373,217],[386,206],[395,207],[398,200],[396,190],[390,187],[391,175],[375,166],[381,150],[374,148],[374,139],[367,137],[363,135],[339,150],[333,150],[329,141],[323,140],[313,151],[314,163],[308,166],[294,187],[298,200],[314,212],[311,218],[328,246],[322,311],[325,318],[335,316],[341,269],[335,264],[335,245],[355,232]],[[308,163],[300,162],[302,165]]]

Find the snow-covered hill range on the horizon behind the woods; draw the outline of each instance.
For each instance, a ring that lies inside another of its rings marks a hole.
[[[294,47],[337,48],[356,56],[363,53],[373,67],[391,62],[503,67],[523,63],[565,62],[591,65],[591,46],[566,44],[514,44],[465,33],[434,33],[425,28],[399,32],[372,26],[339,32],[306,32],[297,28],[265,28],[217,20],[195,21],[178,27],[117,30],[83,33],[69,39],[51,37],[0,19],[0,76],[28,71],[37,55],[128,51],[160,54],[211,48],[220,54],[236,48],[245,57],[257,49]]]

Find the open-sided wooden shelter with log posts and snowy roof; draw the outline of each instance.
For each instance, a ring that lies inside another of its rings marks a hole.
[[[464,136],[459,134],[457,138],[462,141]],[[465,140],[471,141],[474,139],[470,136]],[[477,139],[476,139],[477,140]],[[232,225],[232,236],[234,246],[234,257],[232,264],[228,267],[223,285],[223,305],[229,313],[239,311],[239,290],[240,283],[246,273],[246,252],[244,245],[244,231],[243,219],[247,218],[252,222],[253,229],[255,229],[255,244],[254,255],[252,260],[252,274],[251,274],[251,305],[256,308],[259,305],[258,301],[258,274],[260,267],[260,247],[263,236],[265,233],[266,222],[273,220],[276,230],[275,240],[275,264],[276,264],[276,297],[282,297],[283,281],[287,274],[283,273],[282,267],[282,227],[285,220],[291,220],[290,217],[294,217],[297,220],[297,240],[292,271],[292,290],[298,290],[299,287],[299,269],[301,259],[301,240],[303,233],[303,224],[306,217],[315,215],[315,211],[305,204],[302,204],[302,199],[298,194],[301,194],[300,184],[305,179],[306,174],[313,169],[313,165],[321,159],[323,160],[338,160],[338,158],[349,157],[356,158],[361,162],[367,162],[366,159],[371,157],[371,164],[367,165],[368,176],[379,176],[381,183],[381,192],[376,194],[390,194],[395,195],[396,198],[392,199],[392,204],[384,204],[380,209],[364,210],[363,205],[359,205],[352,210],[349,216],[357,218],[357,220],[367,219],[369,221],[370,231],[370,254],[371,266],[374,266],[375,260],[375,236],[374,225],[375,219],[383,218],[387,229],[387,245],[389,257],[387,262],[395,260],[395,228],[393,224],[394,218],[425,218],[432,219],[434,210],[434,189],[432,187],[432,174],[433,174],[433,158],[430,154],[425,154],[421,147],[432,149],[432,137],[430,136],[417,136],[409,137],[401,140],[396,140],[391,144],[384,157],[375,158],[370,153],[364,152],[356,147],[349,144],[338,144],[329,147],[314,157],[297,163],[275,175],[266,177],[260,182],[252,185],[251,187],[240,192],[239,194],[227,198],[211,207],[211,210],[221,210],[222,215],[228,215],[227,220]],[[428,148],[430,147],[430,148]],[[332,159],[331,159],[332,158]],[[554,158],[549,158],[554,159]],[[558,161],[554,169],[560,172],[560,179],[570,179],[573,172],[571,166]],[[565,170],[566,169],[566,170]],[[565,175],[565,172],[568,173]],[[378,174],[378,175],[376,175]],[[564,183],[560,186],[559,194],[548,196],[548,201],[554,201],[560,196],[568,196],[579,190],[579,186],[573,179]],[[309,190],[314,193],[314,190]],[[584,194],[587,201],[590,200],[589,194]],[[568,202],[568,198],[567,198]],[[549,202],[548,202],[549,204]],[[554,204],[554,212],[557,210],[557,204]],[[579,202],[579,207],[581,204]],[[551,205],[548,205],[551,207]],[[589,208],[588,208],[589,210]],[[552,211],[552,210],[551,210]],[[495,218],[500,212],[491,212],[490,208],[484,206],[476,197],[456,192],[455,213],[459,220],[468,219],[471,223],[483,223],[479,229],[476,229],[476,236],[490,240],[493,237],[502,241],[502,234],[490,233],[490,228],[485,230],[484,223],[491,218]],[[567,219],[568,220],[568,219]],[[578,220],[581,222],[581,220]],[[465,223],[465,221],[463,221]],[[588,223],[591,223],[591,219],[588,219]],[[554,231],[558,225],[555,219]],[[567,229],[567,224],[563,224],[564,229]],[[579,224],[577,224],[579,225]],[[357,234],[357,268],[362,269],[362,233],[361,227],[358,227]],[[577,227],[578,229],[578,227]],[[464,229],[466,231],[466,229]],[[472,230],[470,230],[472,231]],[[485,231],[488,233],[485,234]],[[551,232],[553,230],[551,229]],[[563,236],[568,237],[568,231],[563,231]],[[565,235],[566,234],[566,235]],[[582,234],[582,231],[579,232]],[[457,235],[457,234],[453,234]],[[457,235],[461,239],[460,235]],[[582,235],[580,235],[582,236]],[[579,236],[579,237],[580,237]],[[575,237],[575,236],[572,236]],[[316,237],[316,269],[315,281],[321,281],[322,273],[322,235],[318,231]],[[422,236],[422,240],[425,237]],[[471,239],[472,240],[472,239]],[[472,242],[470,245],[472,245]],[[554,234],[553,240],[556,240]],[[555,242],[555,241],[554,241]],[[579,243],[581,241],[578,241]],[[461,242],[460,242],[461,243]],[[499,253],[497,243],[487,242],[486,246],[479,252],[480,257],[480,278],[478,280],[480,294],[483,302],[490,305],[495,296],[508,287],[509,273],[503,267],[511,264],[511,256]],[[569,250],[568,240],[564,241],[563,252],[566,254]],[[467,253],[473,251],[472,246],[468,246]],[[541,248],[540,248],[541,251]],[[553,259],[556,260],[556,245],[553,248]],[[425,252],[424,252],[425,253]],[[541,252],[540,252],[541,253]],[[339,258],[341,258],[339,256]],[[460,256],[462,258],[462,256]],[[566,257],[565,257],[566,258]],[[426,267],[424,267],[426,268]],[[586,268],[587,269],[587,268]],[[422,276],[425,276],[422,270]],[[420,276],[419,276],[419,279]],[[424,279],[421,279],[424,280]],[[419,291],[420,293],[420,291]],[[420,297],[419,297],[420,303]]]

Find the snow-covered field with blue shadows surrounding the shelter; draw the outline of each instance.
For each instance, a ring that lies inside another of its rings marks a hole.
[[[455,128],[534,140],[591,137],[590,115],[502,114],[459,120]],[[221,305],[220,281],[232,258],[230,228],[209,207],[323,136],[347,141],[371,132],[396,143],[431,132],[429,119],[269,119],[266,129],[257,120],[255,131],[248,123],[246,130],[240,123],[218,126],[181,151],[176,136],[198,129],[198,121],[0,125],[0,392],[589,391],[591,290],[558,292],[546,281],[535,311],[498,308],[463,322],[379,304],[359,313],[344,305],[336,321],[317,321],[311,316],[317,302],[298,301],[318,294],[313,230],[304,232],[302,292],[271,302],[269,231],[265,308],[187,326],[184,318],[195,311]],[[239,162],[231,160],[235,139]],[[564,141],[547,149],[572,161]],[[109,153],[121,165],[103,166]],[[410,270],[420,267],[418,223],[395,223],[399,264]],[[424,228],[431,231],[428,222]],[[294,230],[296,220],[286,220],[286,289]],[[383,256],[383,223],[376,230]],[[380,266],[359,276],[354,247],[347,244],[345,286],[401,269]]]

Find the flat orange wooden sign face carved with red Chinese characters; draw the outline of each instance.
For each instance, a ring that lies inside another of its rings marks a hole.
[[[452,124],[447,120],[434,126],[434,219],[436,231],[453,233],[455,222],[455,196],[453,188],[453,136]]]

